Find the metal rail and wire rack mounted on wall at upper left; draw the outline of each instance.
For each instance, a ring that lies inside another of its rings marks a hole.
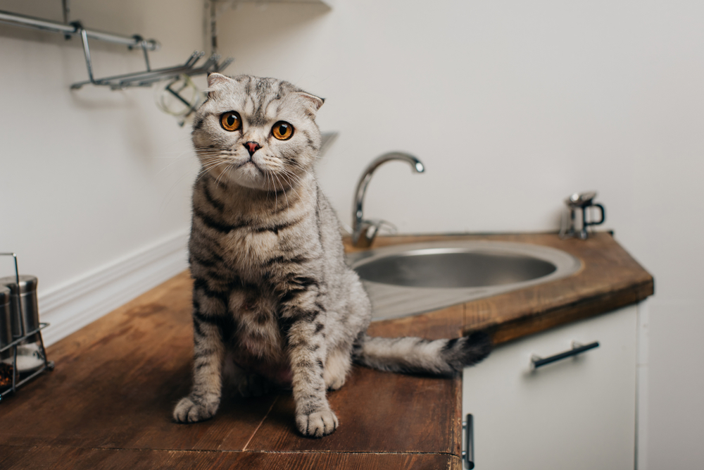
[[[71,89],[78,89],[83,85],[104,85],[111,89],[125,89],[127,87],[149,87],[154,82],[159,80],[168,80],[180,77],[181,75],[201,75],[204,73],[220,72],[225,70],[232,63],[232,58],[226,58],[220,61],[218,54],[213,54],[201,65],[196,66],[196,63],[205,55],[203,52],[194,52],[188,60],[180,66],[151,69],[149,63],[149,51],[156,51],[159,48],[159,42],[156,39],[144,39],[142,36],[134,35],[132,37],[115,35],[110,32],[101,32],[89,30],[80,23],[80,21],[68,22],[68,0],[63,0],[63,16],[65,23],[58,23],[41,18],[33,18],[31,16],[19,15],[17,13],[9,13],[0,11],[0,23],[8,25],[31,27],[37,30],[57,32],[66,39],[70,39],[75,35],[80,36],[83,43],[83,52],[86,60],[86,68],[88,71],[88,80],[77,82],[71,85]],[[93,73],[93,63],[91,60],[90,47],[88,38],[99,39],[101,41],[112,42],[115,44],[123,44],[128,49],[142,49],[144,53],[144,62],[146,70],[136,73],[125,73],[122,75],[113,75],[105,78],[95,78]],[[175,93],[172,89],[169,90],[172,94]],[[184,101],[180,96],[181,101]]]

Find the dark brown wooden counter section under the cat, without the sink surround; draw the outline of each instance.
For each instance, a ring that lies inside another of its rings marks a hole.
[[[137,468],[180,468],[189,462],[188,455],[196,455],[175,451],[215,452],[204,454],[210,457],[197,454],[194,462],[203,462],[203,468],[240,462],[232,452],[243,451],[249,453],[242,462],[264,465],[244,467],[253,469],[279,468],[278,462],[280,468],[299,468],[289,465],[296,459],[301,465],[332,459],[331,464],[339,461],[350,468],[377,468],[369,463],[376,454],[399,454],[387,462],[398,466],[378,468],[455,468],[458,379],[356,366],[346,385],[329,394],[341,426],[323,439],[296,433],[294,402],[286,390],[253,399],[227,397],[218,414],[203,423],[172,422],[172,407],[187,394],[191,381],[191,286],[188,273],[182,273],[49,347],[56,369],[0,403],[0,445],[26,454],[26,462],[49,459],[52,453],[46,449],[63,449],[52,451],[56,459],[80,457],[109,468],[132,468],[130,462],[139,455],[144,462]],[[113,461],[120,458],[115,449],[130,450],[124,466],[115,466]],[[222,452],[230,457],[213,457]],[[257,452],[277,456],[253,456]],[[293,453],[285,457],[281,452]],[[348,452],[365,455],[332,455]],[[150,459],[164,460],[151,466]],[[48,466],[42,462],[35,462],[37,468],[55,468],[49,460],[44,463]]]

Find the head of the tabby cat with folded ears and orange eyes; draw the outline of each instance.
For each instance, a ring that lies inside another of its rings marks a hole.
[[[192,132],[203,170],[257,190],[295,186],[320,150],[322,101],[282,80],[211,73]]]

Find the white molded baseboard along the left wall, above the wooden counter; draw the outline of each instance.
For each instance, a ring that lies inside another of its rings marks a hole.
[[[40,319],[51,323],[42,330],[44,343],[65,338],[187,269],[187,242],[187,231],[177,233],[49,292],[39,292]]]

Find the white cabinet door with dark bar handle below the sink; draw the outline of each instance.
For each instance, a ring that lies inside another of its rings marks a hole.
[[[463,373],[479,470],[633,469],[637,307],[499,346]],[[572,342],[599,347],[531,370]]]

